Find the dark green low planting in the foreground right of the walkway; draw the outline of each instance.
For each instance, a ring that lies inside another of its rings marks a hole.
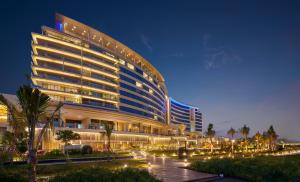
[[[288,182],[295,181],[300,177],[300,155],[196,160],[191,163],[190,168],[247,181]]]

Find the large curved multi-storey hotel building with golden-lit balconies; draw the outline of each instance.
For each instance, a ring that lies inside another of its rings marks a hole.
[[[76,142],[97,149],[107,120],[115,123],[115,148],[187,140],[178,136],[180,124],[187,133],[202,132],[199,109],[170,98],[163,76],[141,55],[71,18],[57,14],[55,22],[55,28],[32,33],[31,79],[33,87],[64,102],[56,130],[78,132]],[[60,145],[48,141],[44,149]]]

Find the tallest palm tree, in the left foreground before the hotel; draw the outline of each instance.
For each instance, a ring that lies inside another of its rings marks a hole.
[[[47,111],[50,105],[50,97],[42,93],[39,89],[31,88],[28,85],[23,85],[18,89],[17,97],[20,111],[10,104],[4,96],[1,96],[0,99],[8,107],[13,119],[21,119],[26,123],[28,129],[28,176],[29,181],[34,182],[36,181],[37,149],[41,145],[42,138],[47,129],[53,129],[54,118],[63,104],[59,103],[52,113]],[[47,114],[50,114],[50,116],[48,115],[49,117],[47,117]],[[36,135],[37,125],[43,125],[38,135]]]

